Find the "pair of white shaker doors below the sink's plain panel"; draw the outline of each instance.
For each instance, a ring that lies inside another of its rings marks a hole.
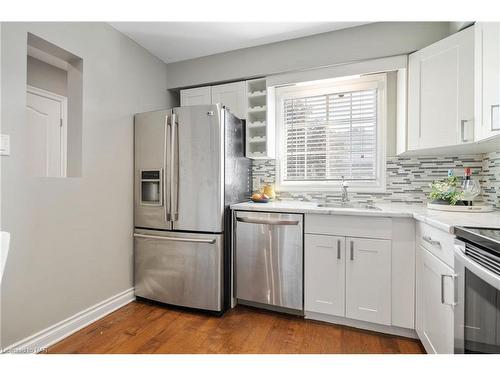
[[[391,241],[307,234],[305,310],[391,324]]]

